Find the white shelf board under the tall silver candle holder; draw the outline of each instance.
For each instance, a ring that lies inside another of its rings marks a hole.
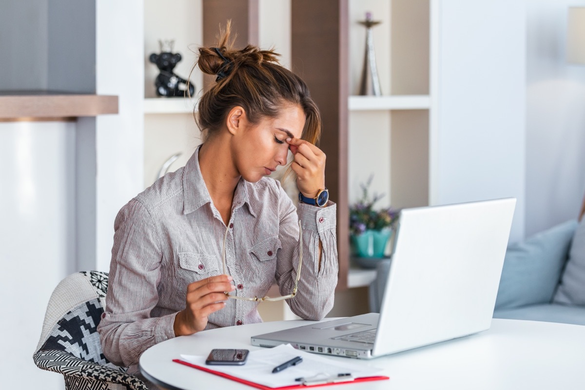
[[[420,110],[431,108],[428,95],[349,96],[350,111]]]

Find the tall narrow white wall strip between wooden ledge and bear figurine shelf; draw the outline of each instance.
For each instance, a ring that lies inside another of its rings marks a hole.
[[[96,91],[119,98],[118,115],[95,119],[96,251],[92,268],[109,271],[116,214],[143,189],[144,4],[142,0],[99,0],[95,15]]]

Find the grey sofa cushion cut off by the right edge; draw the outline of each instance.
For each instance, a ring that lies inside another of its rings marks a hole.
[[[555,294],[555,302],[585,305],[585,218],[573,236],[569,260]]]

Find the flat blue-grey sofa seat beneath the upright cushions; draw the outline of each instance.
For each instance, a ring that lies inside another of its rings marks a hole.
[[[585,325],[585,306],[542,303],[541,305],[530,305],[522,308],[496,310],[494,318]]]

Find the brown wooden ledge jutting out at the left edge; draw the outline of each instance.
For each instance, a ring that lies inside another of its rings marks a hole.
[[[0,120],[71,120],[118,113],[118,96],[60,91],[0,91]]]

